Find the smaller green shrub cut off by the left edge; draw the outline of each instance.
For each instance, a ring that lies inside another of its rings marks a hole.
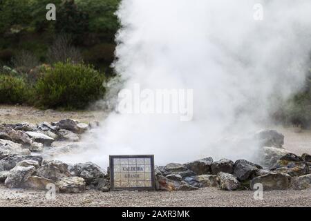
[[[0,104],[22,104],[27,102],[28,90],[22,78],[0,75]]]

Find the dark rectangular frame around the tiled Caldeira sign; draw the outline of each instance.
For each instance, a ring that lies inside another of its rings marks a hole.
[[[114,181],[114,164],[115,158],[131,159],[131,158],[149,158],[151,166],[151,187],[115,187]],[[110,171],[110,185],[111,191],[155,191],[155,173],[154,173],[154,155],[109,155],[109,171]]]

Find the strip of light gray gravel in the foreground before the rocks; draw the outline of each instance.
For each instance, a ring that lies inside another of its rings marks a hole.
[[[10,190],[0,185],[0,206],[311,206],[311,189],[304,191],[267,191],[263,200],[254,200],[252,191],[198,191],[102,193],[86,191],[57,194],[46,200],[44,191]]]

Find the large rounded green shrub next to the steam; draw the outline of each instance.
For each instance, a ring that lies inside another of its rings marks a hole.
[[[104,95],[104,75],[84,64],[57,63],[37,81],[37,106],[84,108]]]

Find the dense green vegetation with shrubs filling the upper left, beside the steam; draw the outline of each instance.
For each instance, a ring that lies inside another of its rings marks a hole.
[[[46,19],[48,3],[56,21]],[[102,97],[114,75],[119,3],[1,0],[0,103],[84,108]]]

